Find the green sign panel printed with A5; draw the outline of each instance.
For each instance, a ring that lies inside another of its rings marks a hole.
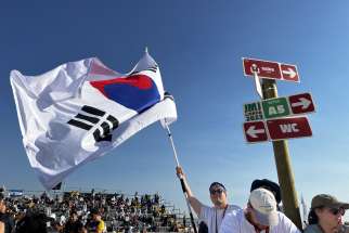
[[[262,101],[264,117],[267,119],[290,115],[286,98],[275,98]]]

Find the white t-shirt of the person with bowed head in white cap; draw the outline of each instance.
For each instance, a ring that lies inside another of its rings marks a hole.
[[[277,225],[271,226],[269,233],[300,233],[297,226],[283,212],[277,211],[277,216],[279,223]],[[263,233],[266,231],[261,232]],[[256,233],[256,230],[247,221],[245,210],[241,209],[225,215],[219,233]]]

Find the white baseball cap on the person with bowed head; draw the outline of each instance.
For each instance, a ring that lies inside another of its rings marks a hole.
[[[260,224],[276,225],[279,223],[276,200],[272,192],[262,187],[254,190],[249,194],[249,204]]]

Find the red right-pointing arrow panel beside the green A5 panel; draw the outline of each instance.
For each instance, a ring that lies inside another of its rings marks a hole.
[[[310,93],[302,93],[288,96],[289,106],[293,114],[305,114],[315,111]]]

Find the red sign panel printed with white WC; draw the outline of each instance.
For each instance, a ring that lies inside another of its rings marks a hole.
[[[307,117],[267,120],[271,140],[284,140],[312,135]]]

